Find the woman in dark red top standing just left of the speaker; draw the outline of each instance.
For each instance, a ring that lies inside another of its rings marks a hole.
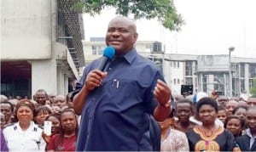
[[[61,130],[49,140],[47,151],[75,151],[78,135],[78,122],[73,110],[61,112]]]

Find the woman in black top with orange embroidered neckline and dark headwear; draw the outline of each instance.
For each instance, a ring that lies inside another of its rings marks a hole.
[[[232,151],[232,133],[214,122],[218,113],[217,102],[207,97],[200,99],[196,104],[196,113],[202,125],[187,132],[189,151]]]

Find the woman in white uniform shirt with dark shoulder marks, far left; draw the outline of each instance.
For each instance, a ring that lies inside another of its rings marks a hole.
[[[18,122],[9,124],[3,129],[3,135],[9,151],[44,151],[43,129],[32,119],[35,106],[28,99],[22,99],[15,106],[15,117]]]

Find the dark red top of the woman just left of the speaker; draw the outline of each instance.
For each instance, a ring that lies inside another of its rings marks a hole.
[[[47,150],[55,150],[55,151],[75,151],[76,149],[76,141],[77,136],[72,136],[70,138],[63,137],[62,142],[59,143],[60,134],[55,134],[49,140],[49,144],[47,145]]]

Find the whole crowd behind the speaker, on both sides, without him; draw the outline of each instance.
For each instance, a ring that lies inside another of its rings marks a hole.
[[[256,150],[256,96],[244,100],[204,93],[195,100],[198,94],[174,96],[174,110],[159,121],[161,151]],[[79,115],[69,94],[49,96],[39,89],[33,100],[1,95],[0,104],[1,151],[75,151]],[[44,121],[52,122],[50,136]]]

